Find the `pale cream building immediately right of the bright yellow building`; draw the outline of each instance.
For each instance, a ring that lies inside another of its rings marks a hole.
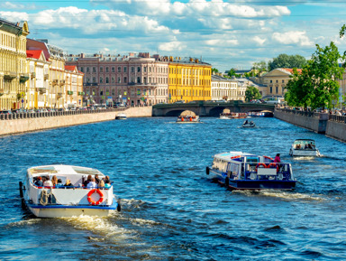
[[[238,83],[232,79],[212,75],[212,100],[238,100]]]

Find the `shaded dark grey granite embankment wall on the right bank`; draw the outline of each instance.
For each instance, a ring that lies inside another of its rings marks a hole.
[[[276,109],[274,117],[346,142],[346,117],[344,116],[290,109]]]

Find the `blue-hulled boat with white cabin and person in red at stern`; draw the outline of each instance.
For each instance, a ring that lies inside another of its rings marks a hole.
[[[215,154],[206,174],[232,190],[293,190],[296,186],[290,163],[242,152]]]

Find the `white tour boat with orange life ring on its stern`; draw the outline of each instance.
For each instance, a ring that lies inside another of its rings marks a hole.
[[[120,211],[121,206],[115,199],[112,184],[102,188],[86,188],[82,185],[88,175],[94,178],[96,174],[100,180],[105,178],[105,175],[96,169],[72,165],[29,168],[24,184],[20,182],[23,203],[38,218],[62,218],[81,214],[107,216],[114,210]],[[46,177],[51,180],[53,176],[65,185],[37,185],[36,181]]]

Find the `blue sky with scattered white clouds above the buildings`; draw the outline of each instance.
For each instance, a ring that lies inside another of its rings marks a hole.
[[[281,53],[310,59],[315,44],[346,51],[346,0],[0,0],[0,17],[68,54],[159,53],[219,71]]]

